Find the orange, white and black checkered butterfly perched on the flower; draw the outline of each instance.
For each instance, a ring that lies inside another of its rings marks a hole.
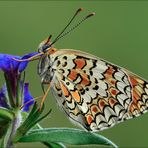
[[[69,119],[89,131],[100,131],[147,112],[147,81],[89,53],[52,46],[71,31],[64,33],[69,24],[52,43],[51,36],[41,42],[38,63],[41,83],[49,85]]]

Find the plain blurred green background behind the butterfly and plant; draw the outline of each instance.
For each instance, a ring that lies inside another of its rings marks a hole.
[[[53,38],[65,27],[74,12],[83,7],[78,20],[96,15],[56,43],[95,54],[148,79],[148,2],[138,1],[7,1],[0,2],[0,52],[23,55],[37,51],[38,44],[50,34]],[[77,20],[75,23],[78,22]],[[0,73],[0,84],[4,82]],[[37,61],[29,64],[26,80],[34,96],[40,96]],[[52,114],[44,127],[75,127],[49,94],[46,105]],[[148,147],[148,114],[125,121],[100,132],[120,147]],[[43,147],[18,144],[18,147]]]

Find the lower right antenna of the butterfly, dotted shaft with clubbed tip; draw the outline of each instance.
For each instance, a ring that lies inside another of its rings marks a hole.
[[[92,16],[94,16],[95,15],[95,13],[93,12],[93,13],[90,13],[90,14],[88,14],[87,16],[85,16],[84,18],[82,18],[75,26],[73,26],[69,31],[67,31],[67,32],[65,32],[64,34],[60,34],[52,43],[51,43],[51,45],[52,44],[54,44],[55,42],[57,42],[60,38],[62,38],[62,37],[64,37],[65,35],[67,35],[67,34],[69,34],[71,31],[73,31],[75,28],[77,28],[82,22],[84,22],[85,20],[87,20],[88,18],[90,18],[90,17],[92,17]]]

